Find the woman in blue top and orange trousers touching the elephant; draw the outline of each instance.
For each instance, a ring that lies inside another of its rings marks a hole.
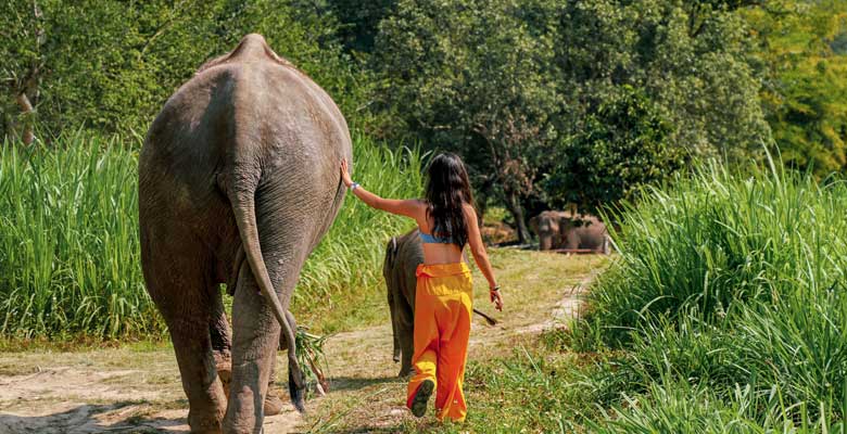
[[[422,417],[435,392],[439,420],[465,420],[467,405],[462,390],[470,334],[470,269],[463,250],[470,252],[489,282],[489,296],[497,310],[503,297],[491,269],[473,209],[468,173],[462,159],[439,154],[429,165],[426,199],[382,199],[353,182],[346,161],[341,179],[368,206],[415,219],[423,242],[423,264],[417,269],[415,294],[415,374],[408,383],[406,406]]]

